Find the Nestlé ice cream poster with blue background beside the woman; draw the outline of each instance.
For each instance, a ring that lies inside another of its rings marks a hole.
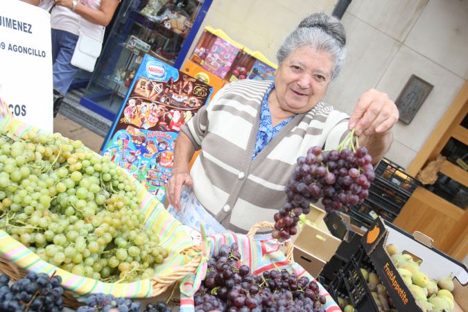
[[[211,87],[145,55],[103,150],[164,201],[177,133],[207,103]]]

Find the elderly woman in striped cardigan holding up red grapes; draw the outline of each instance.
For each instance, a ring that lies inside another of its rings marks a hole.
[[[204,223],[209,233],[246,233],[284,205],[296,159],[311,146],[336,148],[354,128],[359,144],[380,159],[398,120],[395,103],[369,90],[349,117],[322,101],[344,49],[340,21],[315,13],[279,49],[274,83],[241,80],[223,87],[177,138],[168,211],[191,227]]]

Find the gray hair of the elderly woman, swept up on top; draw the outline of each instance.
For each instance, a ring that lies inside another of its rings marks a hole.
[[[336,17],[324,12],[313,13],[302,19],[299,26],[289,34],[277,52],[281,64],[291,53],[302,46],[331,54],[333,69],[331,79],[338,77],[345,60],[346,34],[343,24]]]

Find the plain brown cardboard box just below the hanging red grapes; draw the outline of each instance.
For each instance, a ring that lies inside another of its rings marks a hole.
[[[335,254],[341,241],[317,227],[304,224],[293,243],[294,260],[315,277]]]

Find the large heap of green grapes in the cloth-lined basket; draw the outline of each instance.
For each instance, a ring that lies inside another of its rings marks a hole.
[[[167,257],[127,173],[60,134],[0,132],[0,229],[44,261],[109,282],[153,277]]]

